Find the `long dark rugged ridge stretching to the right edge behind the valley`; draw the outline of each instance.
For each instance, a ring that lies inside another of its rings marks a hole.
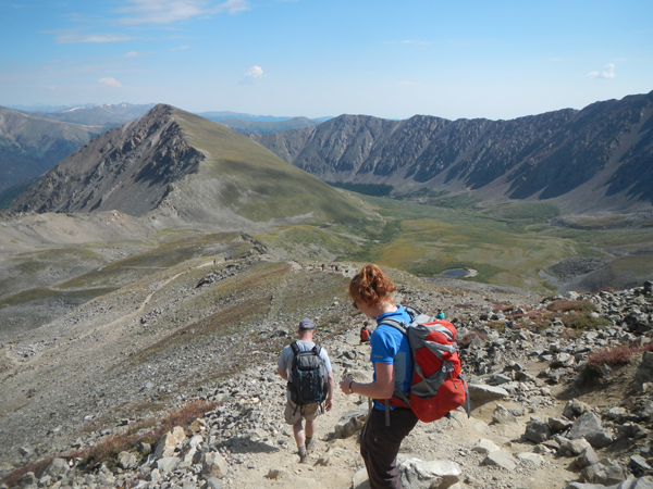
[[[251,138],[324,181],[394,197],[550,200],[567,212],[653,204],[653,92],[512,121],[341,115]]]

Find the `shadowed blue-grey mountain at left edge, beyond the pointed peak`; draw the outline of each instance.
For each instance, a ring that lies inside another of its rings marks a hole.
[[[102,131],[0,106],[0,192],[41,175]]]

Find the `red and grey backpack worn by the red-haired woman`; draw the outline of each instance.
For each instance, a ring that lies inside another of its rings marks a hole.
[[[412,383],[409,392],[395,388],[393,397],[385,401],[385,422],[390,424],[389,405],[410,408],[423,423],[430,423],[467,401],[467,383],[460,375],[460,359],[456,344],[456,328],[445,319],[421,314],[411,306],[405,306],[411,318],[410,324],[396,319],[383,319],[381,324],[392,326],[408,337],[412,356]]]

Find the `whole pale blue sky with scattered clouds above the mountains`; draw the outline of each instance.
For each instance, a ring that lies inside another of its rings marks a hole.
[[[451,120],[653,90],[651,0],[0,0],[0,105]]]

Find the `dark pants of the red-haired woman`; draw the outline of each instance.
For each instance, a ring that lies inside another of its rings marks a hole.
[[[385,426],[385,412],[372,410],[360,437],[360,454],[370,479],[371,489],[401,489],[397,453],[402,440],[415,428],[418,419],[409,409],[390,412],[390,426]]]

